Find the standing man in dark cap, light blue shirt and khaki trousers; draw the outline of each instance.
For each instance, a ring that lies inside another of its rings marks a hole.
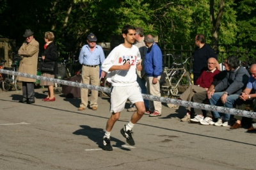
[[[84,45],[79,54],[79,63],[83,65],[82,68],[82,83],[92,84],[93,86],[99,86],[99,65],[105,60],[104,52],[100,45],[96,44],[97,38],[93,33],[87,36],[87,45]],[[106,75],[105,72],[101,72],[101,77]],[[90,107],[93,111],[97,110],[98,104],[98,91],[92,90]],[[81,88],[81,104],[77,109],[83,111],[88,105],[88,89]]]

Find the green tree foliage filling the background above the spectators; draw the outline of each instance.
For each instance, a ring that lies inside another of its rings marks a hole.
[[[215,17],[219,8],[220,1],[214,1]],[[252,0],[226,0],[219,43],[255,43],[255,8]],[[98,42],[109,42],[111,35],[120,35],[124,25],[132,24],[143,27],[145,35],[157,35],[161,43],[193,44],[197,33],[211,43],[209,9],[209,0],[2,0],[0,36],[18,45],[24,30],[31,29],[42,47],[45,31],[52,31],[55,43],[76,51],[91,32]]]

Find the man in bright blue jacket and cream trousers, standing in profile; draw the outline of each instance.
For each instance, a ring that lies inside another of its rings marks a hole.
[[[161,97],[159,80],[163,72],[162,52],[154,42],[152,35],[145,36],[144,42],[148,47],[144,61],[144,70],[147,75],[147,92],[150,95]],[[161,116],[161,111],[161,102],[149,101],[149,111],[147,114],[150,117]]]

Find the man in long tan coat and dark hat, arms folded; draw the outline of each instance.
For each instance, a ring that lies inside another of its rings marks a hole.
[[[26,38],[26,41],[22,43],[22,46],[18,51],[21,58],[19,72],[36,75],[39,43],[35,40],[33,35],[33,31],[30,29],[26,29],[23,35]],[[36,79],[17,77],[17,80],[22,81],[23,98],[19,102],[27,104],[35,103],[34,82]]]

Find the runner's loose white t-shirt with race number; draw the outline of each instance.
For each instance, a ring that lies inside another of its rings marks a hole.
[[[108,57],[102,63],[101,69],[107,72],[107,81],[111,82],[112,86],[130,86],[138,84],[136,82],[136,64],[141,59],[138,47],[132,45],[131,48],[124,47],[123,44],[118,45],[113,49]],[[127,61],[130,62],[129,70],[115,70],[109,72],[109,68],[113,65],[124,65]]]

